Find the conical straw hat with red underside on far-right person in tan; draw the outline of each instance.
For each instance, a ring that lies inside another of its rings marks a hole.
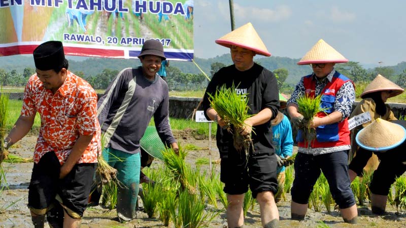
[[[400,86],[394,84],[389,79],[386,79],[381,74],[378,74],[377,77],[375,77],[375,79],[365,87],[364,91],[361,94],[361,98],[363,98],[365,94],[385,90],[392,91],[389,97],[397,96],[404,91],[404,89],[402,89]]]

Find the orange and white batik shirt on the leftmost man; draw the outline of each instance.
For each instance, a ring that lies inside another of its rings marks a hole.
[[[96,163],[100,149],[100,125],[97,120],[97,94],[83,79],[67,71],[66,79],[53,94],[43,87],[37,74],[24,90],[21,116],[41,116],[41,129],[33,160],[54,151],[62,165],[80,135],[93,135],[78,163]]]

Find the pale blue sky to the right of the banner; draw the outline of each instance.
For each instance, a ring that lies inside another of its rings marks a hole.
[[[404,0],[233,0],[235,28],[251,22],[273,56],[301,58],[323,39],[350,61],[406,61]],[[194,55],[229,53],[214,43],[231,31],[228,0],[194,1]]]

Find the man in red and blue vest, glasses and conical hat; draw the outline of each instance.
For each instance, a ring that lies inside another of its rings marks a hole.
[[[320,106],[326,110],[317,113],[310,123],[310,127],[316,129],[316,138],[313,141],[306,142],[301,131],[296,137],[298,154],[291,189],[292,219],[304,219],[309,196],[322,171],[328,180],[334,201],[340,206],[344,221],[357,221],[357,207],[348,177],[347,155],[350,149],[347,118],[355,100],[355,91],[352,81],[334,69],[335,63],[344,62],[348,60],[320,40],[297,63],[310,64],[313,73],[301,78],[288,100],[288,112],[293,125],[303,125],[303,116],[298,112],[296,101],[299,96],[321,95]]]

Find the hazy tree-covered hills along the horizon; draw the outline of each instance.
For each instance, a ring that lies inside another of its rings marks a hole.
[[[85,58],[77,56],[66,56],[69,60],[70,69],[73,72],[82,71],[84,75],[96,75],[103,71],[103,69],[121,70],[126,67],[137,67],[140,65],[138,59],[113,59],[113,58]],[[288,57],[256,57],[254,59],[257,63],[266,67],[269,70],[275,70],[278,68],[286,68],[289,72],[289,76],[286,79],[286,83],[295,85],[300,77],[312,72],[312,69],[308,65],[299,66],[296,63],[299,59],[291,59]],[[221,62],[225,65],[231,64],[230,54],[224,54],[216,56],[214,58],[202,59],[195,58],[194,61],[199,67],[210,75],[211,64],[214,62]],[[195,66],[193,62],[186,61],[171,61],[171,66],[179,68],[184,73],[200,73],[200,70]],[[15,56],[2,56],[0,57],[0,68],[6,71],[13,69],[17,72],[23,72],[24,68],[34,68],[33,58],[31,55],[15,55]],[[395,74],[401,73],[406,69],[406,62],[398,63],[395,66],[388,66],[393,69]]]

